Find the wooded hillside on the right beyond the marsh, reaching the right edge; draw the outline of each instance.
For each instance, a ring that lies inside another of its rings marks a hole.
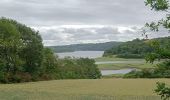
[[[158,41],[161,47],[167,47],[170,45],[170,37],[156,38],[156,39],[135,39],[120,44],[117,47],[112,47],[104,52],[103,56],[117,55],[120,58],[144,58],[147,53],[154,51],[152,47],[152,41]]]

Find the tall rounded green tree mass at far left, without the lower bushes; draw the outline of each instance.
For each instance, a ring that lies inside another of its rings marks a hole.
[[[40,74],[42,61],[43,44],[39,33],[14,20],[0,18],[1,81],[18,82],[26,73],[34,80]]]

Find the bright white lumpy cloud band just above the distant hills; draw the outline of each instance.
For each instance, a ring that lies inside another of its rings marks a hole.
[[[77,43],[100,43],[108,41],[127,41],[135,39],[138,28],[114,27],[114,26],[76,26],[41,27],[40,31],[45,45],[66,45]]]

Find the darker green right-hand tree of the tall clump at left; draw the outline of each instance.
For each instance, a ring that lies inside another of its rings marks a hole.
[[[20,24],[14,20],[8,20],[14,24],[21,34],[21,40],[24,44],[20,52],[21,58],[25,61],[25,71],[37,77],[43,61],[43,44],[39,32]]]

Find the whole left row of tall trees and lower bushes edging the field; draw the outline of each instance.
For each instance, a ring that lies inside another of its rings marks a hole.
[[[39,32],[0,18],[0,82],[17,83],[64,78],[100,78],[91,59],[55,57],[44,48]]]

